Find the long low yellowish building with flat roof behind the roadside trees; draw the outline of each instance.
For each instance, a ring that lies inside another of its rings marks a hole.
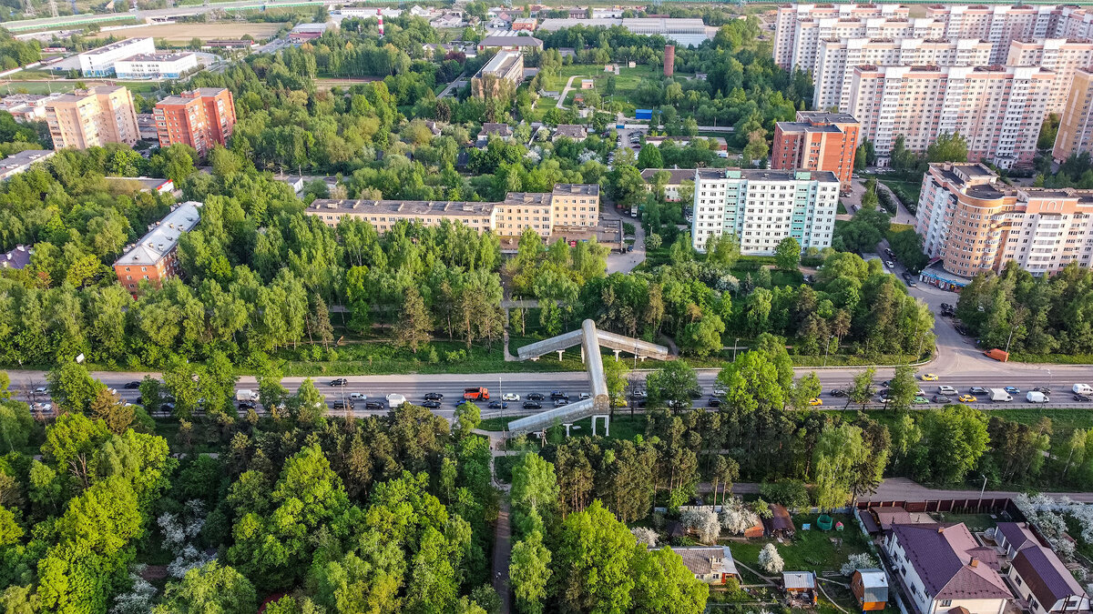
[[[307,214],[318,216],[328,226],[337,226],[346,216],[364,220],[380,233],[403,221],[425,226],[449,221],[480,234],[519,236],[531,228],[550,237],[554,227],[596,226],[599,206],[598,185],[559,184],[551,192],[508,192],[500,202],[319,199]]]

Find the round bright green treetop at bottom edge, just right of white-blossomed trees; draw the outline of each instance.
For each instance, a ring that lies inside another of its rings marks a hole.
[[[190,569],[180,582],[164,590],[164,602],[154,614],[249,614],[257,607],[258,597],[250,580],[232,567],[221,567],[215,560]]]

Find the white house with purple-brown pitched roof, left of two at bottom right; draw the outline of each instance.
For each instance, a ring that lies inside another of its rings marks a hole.
[[[919,614],[1001,614],[1013,598],[995,550],[980,546],[964,523],[894,524],[883,544]]]

